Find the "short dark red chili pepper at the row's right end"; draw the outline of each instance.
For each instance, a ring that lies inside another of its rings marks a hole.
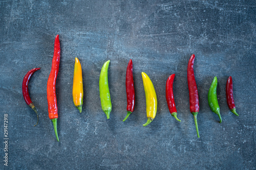
[[[227,79],[227,84],[226,84],[226,98],[227,98],[227,105],[230,111],[237,116],[239,114],[236,112],[236,106],[234,105],[234,98],[233,98],[233,83],[232,83],[232,77],[229,76]]]

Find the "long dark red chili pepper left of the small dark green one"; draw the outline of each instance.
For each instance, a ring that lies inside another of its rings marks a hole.
[[[197,136],[199,136],[198,125],[197,125],[197,114],[199,112],[199,98],[198,98],[198,91],[197,91],[197,83],[194,75],[194,61],[195,61],[195,54],[193,54],[187,65],[187,84],[188,84],[188,91],[189,91],[189,105],[190,105],[190,112],[193,114],[197,129]]]

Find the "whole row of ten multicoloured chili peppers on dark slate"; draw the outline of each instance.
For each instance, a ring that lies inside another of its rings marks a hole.
[[[55,92],[55,84],[56,78],[58,75],[59,70],[59,60],[60,60],[60,44],[59,44],[59,36],[55,37],[54,42],[54,55],[52,59],[52,68],[47,82],[47,101],[48,101],[48,112],[49,118],[53,122],[55,135],[57,141],[59,141],[58,133],[57,133],[57,118],[58,118],[58,108],[57,108],[57,99],[56,99],[56,92]],[[199,112],[199,98],[198,98],[198,90],[197,84],[194,75],[194,61],[195,55],[193,54],[187,66],[187,81],[188,81],[188,90],[189,90],[189,105],[190,105],[190,112],[193,114],[195,119],[195,125],[197,130],[197,135],[199,136],[198,131],[198,124],[197,124],[197,115]],[[106,114],[106,118],[110,118],[110,112],[112,110],[111,104],[111,97],[110,97],[110,90],[109,90],[109,83],[108,83],[108,68],[109,68],[110,60],[106,61],[100,71],[100,78],[99,78],[99,93],[100,93],[100,101],[101,101],[101,108],[103,112]],[[28,92],[28,83],[30,77],[36,70],[40,68],[33,68],[24,77],[23,80],[23,96],[26,103],[36,112],[37,114],[37,123],[38,124],[38,113],[34,104],[32,103],[29,92]],[[145,74],[145,72],[141,72],[143,86],[145,91],[146,97],[146,115],[147,115],[147,122],[143,126],[147,126],[150,124],[156,116],[157,112],[157,95],[154,89],[153,83],[151,79]],[[175,106],[174,101],[174,93],[173,93],[173,82],[174,82],[175,74],[170,75],[166,81],[166,101],[169,108],[169,112],[172,116],[174,116],[179,122],[180,119],[177,118],[177,109]],[[222,122],[221,115],[220,115],[220,107],[217,100],[217,77],[211,83],[210,89],[208,91],[208,104],[212,112],[216,113],[220,118],[220,123]],[[134,111],[135,105],[135,91],[134,91],[134,79],[133,79],[133,62],[132,60],[129,61],[127,69],[126,69],[126,96],[127,96],[127,114],[123,119],[123,122],[129,117],[129,115]],[[226,83],[226,99],[227,105],[230,111],[237,116],[239,116],[236,112],[236,106],[234,105],[233,100],[233,85],[232,85],[232,78],[231,76],[228,78]],[[83,85],[82,85],[82,69],[81,64],[78,58],[75,58],[75,66],[74,66],[74,79],[73,79],[73,102],[77,109],[82,112],[82,104],[83,104]],[[34,125],[34,126],[36,126]]]

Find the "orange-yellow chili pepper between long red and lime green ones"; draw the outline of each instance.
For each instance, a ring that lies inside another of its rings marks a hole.
[[[73,101],[76,108],[82,112],[83,88],[82,68],[78,58],[75,58],[74,79],[73,79]]]

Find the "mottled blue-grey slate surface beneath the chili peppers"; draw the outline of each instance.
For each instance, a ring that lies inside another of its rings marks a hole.
[[[9,166],[0,169],[255,169],[255,1],[0,1],[0,136],[9,115]],[[61,60],[57,78],[58,134],[48,117],[47,80],[54,37]],[[200,95],[197,138],[189,112],[187,62],[196,55]],[[83,71],[84,104],[72,101],[74,59]],[[101,110],[98,79],[111,60],[110,120]],[[125,71],[134,63],[135,111],[126,122]],[[29,89],[39,124],[22,95]],[[151,78],[158,111],[147,127],[141,71]],[[170,116],[165,82],[176,74],[174,95],[181,123]],[[218,77],[223,123],[211,112],[207,92]],[[239,117],[226,104],[233,78]],[[3,139],[2,139],[3,141]],[[4,144],[2,143],[2,147]]]

